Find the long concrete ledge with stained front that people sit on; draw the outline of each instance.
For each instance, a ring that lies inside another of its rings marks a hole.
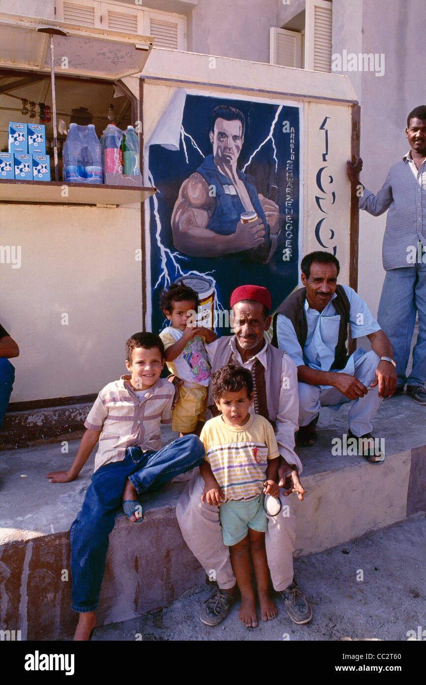
[[[386,461],[332,456],[332,440],[347,433],[347,408],[321,411],[319,440],[299,450],[306,497],[299,502],[296,556],[335,547],[426,510],[425,408],[408,397],[382,403],[373,434],[384,437]],[[174,437],[163,434],[163,442]],[[93,456],[72,483],[50,484],[48,471],[68,469],[78,441],[4,451],[1,456],[0,606],[2,630],[24,640],[72,634],[68,529],[81,508]],[[98,626],[168,606],[205,574],[185,545],[176,501],[185,484],[168,484],[141,498],[145,520],[122,512],[109,538]]]

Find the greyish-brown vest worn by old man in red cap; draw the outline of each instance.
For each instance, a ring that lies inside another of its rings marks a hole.
[[[213,357],[211,371],[221,369],[225,364],[234,362],[238,364],[237,360],[233,358],[232,349],[229,346],[230,340],[234,336],[222,336],[217,340],[215,356]],[[265,419],[272,425],[275,424],[278,414],[278,401],[280,399],[281,389],[281,373],[282,373],[282,355],[284,352],[276,347],[272,347],[265,340],[266,348],[266,362],[267,369],[258,359],[252,366],[252,377],[254,384],[254,410],[256,414],[265,416]],[[211,410],[212,416],[217,416],[213,395],[211,394],[211,384],[209,386],[209,399],[207,406]]]

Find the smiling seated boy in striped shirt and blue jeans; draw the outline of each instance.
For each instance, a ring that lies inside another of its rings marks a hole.
[[[51,483],[74,480],[99,440],[92,483],[70,527],[71,607],[80,614],[75,640],[88,640],[96,623],[108,536],[120,501],[131,521],[142,521],[137,495],[193,469],[204,457],[196,436],[160,449],[160,423],[170,423],[174,386],[160,378],[164,347],[159,336],[136,333],[127,340],[126,353],[130,374],[99,393],[70,470],[47,474]]]

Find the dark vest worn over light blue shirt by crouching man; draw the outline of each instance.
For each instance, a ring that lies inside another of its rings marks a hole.
[[[292,292],[291,295],[289,295],[289,297],[287,297],[282,305],[276,310],[276,315],[284,314],[284,316],[287,316],[287,319],[290,319],[291,323],[293,323],[295,334],[297,336],[297,340],[299,341],[300,347],[302,347],[302,350],[305,347],[306,337],[308,336],[308,323],[306,322],[306,312],[304,308],[305,299],[306,288],[299,288],[299,290]],[[346,340],[347,326],[349,324],[350,304],[343,286],[336,286],[336,297],[332,303],[334,309],[336,310],[336,314],[339,314],[341,317],[332,369],[344,369],[348,359]],[[276,315],[274,316],[271,342],[272,345],[278,347]]]

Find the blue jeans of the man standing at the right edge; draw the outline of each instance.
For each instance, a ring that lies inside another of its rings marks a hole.
[[[407,378],[411,339],[418,312],[413,368]],[[386,271],[377,321],[392,344],[398,387],[423,386],[426,380],[426,264]]]

